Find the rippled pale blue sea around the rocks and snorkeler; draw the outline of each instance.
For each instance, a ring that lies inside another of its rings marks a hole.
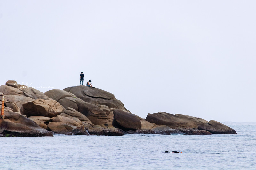
[[[256,123],[222,123],[238,135],[0,137],[0,169],[256,169]]]

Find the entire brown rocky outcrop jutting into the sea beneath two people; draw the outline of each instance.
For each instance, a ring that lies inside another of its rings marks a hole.
[[[158,112],[143,119],[113,94],[84,85],[42,93],[9,80],[0,86],[0,95],[5,96],[0,136],[236,134],[220,122],[188,115]]]

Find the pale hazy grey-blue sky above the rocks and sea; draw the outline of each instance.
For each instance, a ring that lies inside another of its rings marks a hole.
[[[80,85],[142,118],[256,122],[254,0],[0,0],[0,85]],[[43,88],[44,87],[44,88]],[[45,88],[46,87],[46,88]]]

